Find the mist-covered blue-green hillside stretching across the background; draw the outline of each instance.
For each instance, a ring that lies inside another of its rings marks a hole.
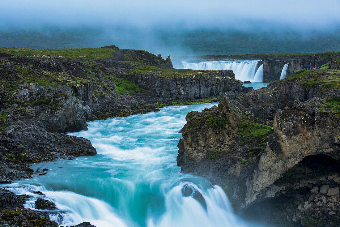
[[[126,36],[124,34],[127,34]],[[0,46],[34,49],[90,48],[115,44],[121,48],[145,49],[171,55],[222,55],[261,53],[310,53],[340,50],[340,32],[254,33],[242,31],[191,32],[122,30],[108,32],[102,28],[60,29],[35,31],[1,31]]]

